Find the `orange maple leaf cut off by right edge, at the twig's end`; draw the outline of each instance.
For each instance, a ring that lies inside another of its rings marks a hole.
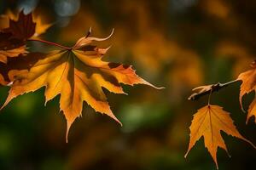
[[[240,96],[239,96],[239,101],[240,101],[242,111],[244,111],[242,106],[242,101],[241,101],[242,96],[244,94],[249,94],[253,90],[256,90],[256,62],[255,61],[253,61],[251,67],[252,67],[251,70],[242,72],[237,78],[237,80],[242,81],[241,87],[240,87]]]

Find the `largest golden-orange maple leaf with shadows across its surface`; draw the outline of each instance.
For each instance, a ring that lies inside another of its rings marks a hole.
[[[108,48],[96,48],[89,43],[103,40],[106,38],[83,37],[73,48],[43,54],[29,71],[12,71],[9,77],[15,75],[15,80],[3,107],[20,94],[45,87],[45,103],[61,94],[60,108],[67,119],[67,134],[74,120],[81,115],[84,101],[95,111],[119,122],[110,110],[102,88],[125,94],[120,83],[154,86],[138,77],[131,65],[102,61]]]

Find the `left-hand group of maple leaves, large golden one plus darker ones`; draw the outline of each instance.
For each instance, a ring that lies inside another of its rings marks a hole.
[[[18,17],[3,16],[0,31],[0,83],[10,86],[9,96],[3,104],[8,105],[15,97],[45,87],[45,104],[61,94],[60,108],[67,119],[67,134],[74,120],[81,115],[84,101],[95,111],[107,114],[116,122],[102,88],[114,94],[125,94],[120,83],[133,86],[146,84],[138,77],[131,65],[109,63],[102,60],[108,48],[97,48],[92,42],[107,38],[90,37],[90,32],[68,48],[38,36],[50,26],[35,20],[33,14]],[[61,50],[48,54],[29,53],[26,42],[38,41],[55,45]],[[154,87],[155,88],[155,87]],[[119,122],[121,124],[121,122]],[[67,139],[67,138],[66,138]]]

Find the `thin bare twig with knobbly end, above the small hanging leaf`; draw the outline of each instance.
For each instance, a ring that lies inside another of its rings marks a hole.
[[[230,82],[225,82],[225,83],[220,83],[218,82],[217,84],[211,84],[211,85],[207,85],[207,86],[201,86],[198,88],[194,88],[193,91],[195,90],[199,90],[199,92],[191,94],[189,96],[189,100],[196,100],[201,98],[201,96],[207,95],[207,94],[211,94],[213,92],[217,92],[219,89],[224,88],[229,86],[230,84],[234,84],[236,82],[239,82],[240,80],[233,80]]]

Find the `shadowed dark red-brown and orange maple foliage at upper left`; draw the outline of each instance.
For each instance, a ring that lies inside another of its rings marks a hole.
[[[9,11],[7,15],[0,17],[2,29],[0,32],[0,62],[6,63],[7,57],[26,54],[26,39],[38,37],[51,26],[51,24],[43,24],[42,18],[34,15],[24,14],[23,11],[20,14]]]

